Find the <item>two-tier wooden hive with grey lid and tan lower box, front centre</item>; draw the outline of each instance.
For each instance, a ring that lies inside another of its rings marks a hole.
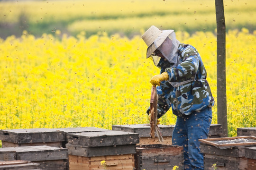
[[[137,143],[137,133],[111,130],[68,134],[69,169],[103,170],[101,161],[105,161],[108,170],[133,170]]]

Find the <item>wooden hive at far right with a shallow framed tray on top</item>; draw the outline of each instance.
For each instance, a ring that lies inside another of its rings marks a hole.
[[[256,145],[256,137],[221,137],[200,139],[201,153],[204,154],[205,170],[212,170],[216,163],[218,170],[247,170],[245,149]]]

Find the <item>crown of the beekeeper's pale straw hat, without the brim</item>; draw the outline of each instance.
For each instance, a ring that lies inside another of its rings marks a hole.
[[[150,26],[141,38],[146,43],[147,47],[149,47],[162,32],[163,31],[156,26]]]

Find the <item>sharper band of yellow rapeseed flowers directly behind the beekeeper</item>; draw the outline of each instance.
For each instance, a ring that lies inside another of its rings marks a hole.
[[[24,32],[0,39],[0,129],[102,127],[148,123],[150,78],[159,73],[145,58],[146,44],[118,34],[84,38]],[[216,36],[176,32],[194,45],[216,99]],[[239,40],[239,41],[238,41]],[[256,126],[256,33],[227,33],[227,101],[230,135]],[[217,107],[213,123],[217,123]],[[174,124],[168,111],[162,124]]]

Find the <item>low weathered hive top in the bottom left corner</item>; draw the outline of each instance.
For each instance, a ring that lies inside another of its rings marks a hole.
[[[38,163],[30,161],[0,161],[0,170],[40,170]]]

